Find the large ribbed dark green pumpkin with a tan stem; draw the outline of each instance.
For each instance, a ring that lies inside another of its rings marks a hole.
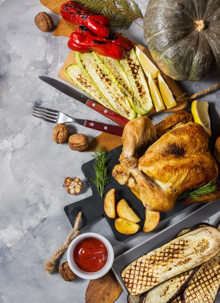
[[[220,0],[149,0],[144,37],[160,69],[198,81],[220,71]]]

